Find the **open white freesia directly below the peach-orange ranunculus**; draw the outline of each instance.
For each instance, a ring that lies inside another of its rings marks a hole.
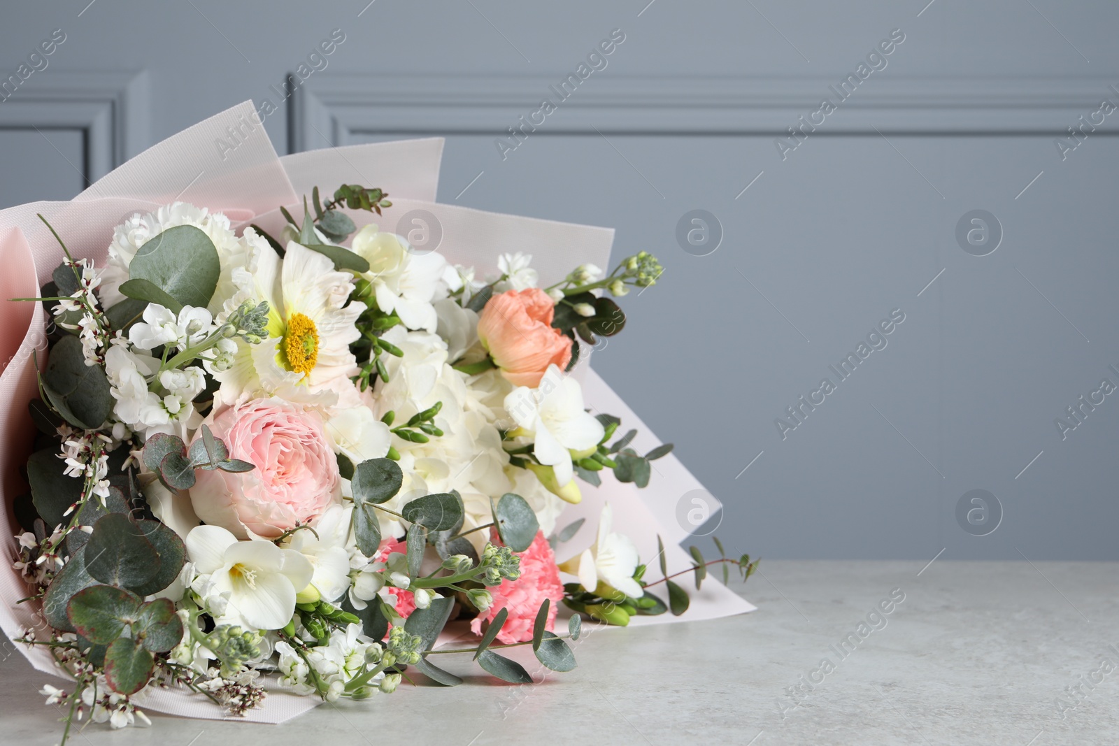
[[[560,487],[574,474],[571,452],[585,451],[602,440],[602,423],[583,408],[583,389],[560,368],[548,366],[535,389],[515,388],[505,398],[505,409],[524,431],[532,435],[533,454],[555,470]]]

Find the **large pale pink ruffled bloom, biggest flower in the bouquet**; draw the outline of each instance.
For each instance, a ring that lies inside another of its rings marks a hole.
[[[190,501],[207,523],[239,539],[250,532],[274,539],[340,501],[338,461],[316,410],[282,399],[253,399],[218,414],[210,429],[231,457],[255,469],[196,472]]]

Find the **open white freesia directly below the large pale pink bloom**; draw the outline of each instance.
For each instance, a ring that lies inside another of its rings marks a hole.
[[[219,526],[192,529],[186,544],[198,574],[208,576],[216,594],[227,598],[218,624],[279,630],[295,611],[295,594],[308,586],[314,574],[311,563],[299,551],[281,549],[263,539],[238,541]]]

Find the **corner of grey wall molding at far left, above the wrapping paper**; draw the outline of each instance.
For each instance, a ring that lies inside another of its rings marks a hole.
[[[143,72],[35,73],[0,102],[0,130],[79,130],[83,170],[93,183],[142,152],[150,142],[150,96]]]

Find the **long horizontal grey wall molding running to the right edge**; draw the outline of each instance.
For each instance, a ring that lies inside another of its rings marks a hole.
[[[369,134],[492,134],[539,108],[555,76],[316,76],[289,102],[292,152]],[[542,134],[788,134],[838,101],[843,78],[620,76],[595,73],[540,125]],[[1116,91],[1109,88],[1115,85]],[[819,134],[1066,134],[1119,77],[894,77],[873,73]],[[1116,117],[1119,120],[1119,117]],[[1104,122],[1104,131],[1119,129]]]

